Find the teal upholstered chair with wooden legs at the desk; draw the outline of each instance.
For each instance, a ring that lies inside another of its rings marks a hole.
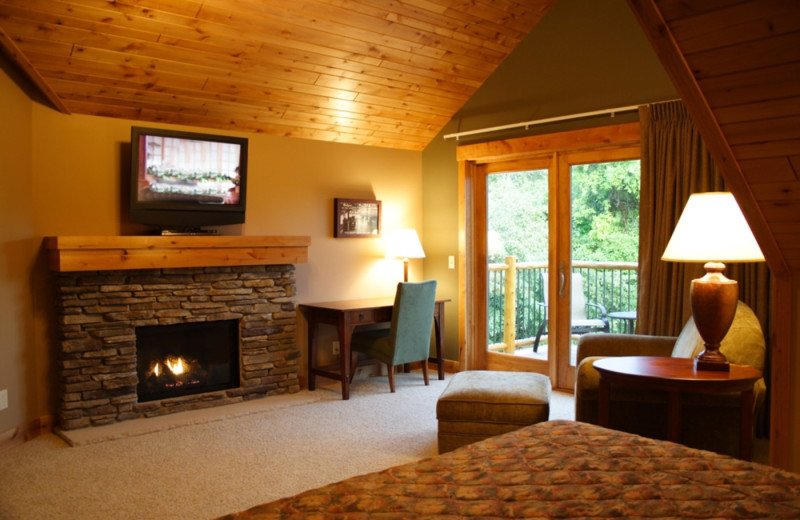
[[[394,369],[397,365],[422,361],[425,384],[428,380],[428,357],[431,348],[433,308],[436,303],[436,280],[400,282],[394,298],[391,326],[353,332],[351,350],[385,363],[389,388],[394,392]],[[356,363],[352,366],[355,370]]]

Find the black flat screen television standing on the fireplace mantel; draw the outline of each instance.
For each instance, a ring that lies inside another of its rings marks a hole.
[[[247,139],[134,126],[130,191],[130,220],[162,232],[241,224]]]

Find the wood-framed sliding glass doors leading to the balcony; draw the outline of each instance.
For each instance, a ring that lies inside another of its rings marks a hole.
[[[619,328],[626,322],[610,313],[636,308],[635,287],[623,302],[605,273],[630,259],[617,253],[638,251],[638,236],[621,233],[638,232],[638,124],[470,145],[459,155],[462,367],[535,371],[572,388],[580,336]],[[635,257],[628,263],[635,273]]]

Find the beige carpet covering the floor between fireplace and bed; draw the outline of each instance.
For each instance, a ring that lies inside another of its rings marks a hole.
[[[75,446],[44,435],[0,453],[0,518],[204,520],[429,457],[446,384],[399,374],[395,394],[376,377],[349,401],[330,386],[69,434]],[[551,418],[572,419],[572,402],[554,392]]]

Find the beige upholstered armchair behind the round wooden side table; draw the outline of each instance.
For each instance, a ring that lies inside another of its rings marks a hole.
[[[703,350],[691,318],[676,337],[625,334],[587,334],[578,342],[575,374],[575,419],[597,424],[599,375],[592,363],[609,356],[694,357]],[[766,342],[752,309],[739,302],[736,316],[720,351],[728,361],[764,370]],[[763,421],[766,384],[756,382],[754,424]],[[688,394],[683,397],[681,443],[736,455],[739,450],[739,395]],[[664,439],[667,432],[667,400],[661,392],[626,388],[611,389],[610,426],[617,430]]]

